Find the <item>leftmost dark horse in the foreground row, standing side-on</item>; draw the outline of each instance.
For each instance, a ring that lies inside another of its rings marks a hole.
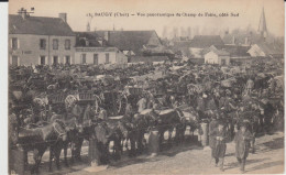
[[[52,171],[53,157],[55,157],[57,168],[59,168],[59,154],[62,150],[59,145],[67,138],[63,122],[55,120],[52,123],[46,123],[33,129],[18,127],[15,132],[18,133],[15,134],[16,143],[21,145],[24,151],[25,166],[28,165],[28,152],[33,151],[35,164],[31,168],[32,174],[38,172],[42,156],[47,147],[50,147],[50,171]]]

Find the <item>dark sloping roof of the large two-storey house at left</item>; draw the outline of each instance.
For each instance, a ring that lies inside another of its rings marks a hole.
[[[9,34],[74,36],[70,26],[61,18],[9,14]]]

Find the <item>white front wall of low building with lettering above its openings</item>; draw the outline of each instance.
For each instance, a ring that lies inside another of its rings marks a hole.
[[[94,54],[98,54],[98,64],[106,64],[106,54],[109,54],[110,64],[127,63],[127,56],[116,47],[76,47],[75,64],[82,64],[82,54],[86,54],[86,64],[94,64]]]

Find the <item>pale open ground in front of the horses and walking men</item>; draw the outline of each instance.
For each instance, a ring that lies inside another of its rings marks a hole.
[[[141,155],[135,158],[123,158],[112,162],[109,166],[90,167],[77,164],[69,168],[55,171],[52,174],[72,175],[109,175],[109,174],[240,174],[239,164],[234,157],[234,143],[228,143],[224,160],[224,172],[215,167],[210,158],[210,149],[194,143],[168,149],[156,157]],[[256,153],[246,161],[246,174],[270,174],[284,172],[284,133],[276,132],[256,139]],[[86,147],[82,150],[87,153]],[[42,172],[46,174],[46,172]]]

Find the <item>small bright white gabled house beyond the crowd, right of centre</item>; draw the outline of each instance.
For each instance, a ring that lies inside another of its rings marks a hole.
[[[205,55],[206,64],[229,65],[230,53],[223,50],[211,50]]]

